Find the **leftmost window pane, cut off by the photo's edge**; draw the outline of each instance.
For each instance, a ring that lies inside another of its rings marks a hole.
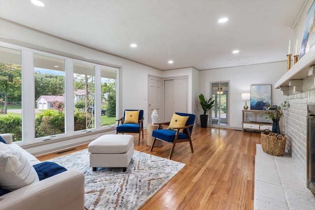
[[[22,141],[21,51],[0,47],[0,133]]]

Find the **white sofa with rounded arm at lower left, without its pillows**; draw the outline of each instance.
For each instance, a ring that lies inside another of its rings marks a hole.
[[[11,134],[1,134],[12,144]],[[40,163],[32,154],[17,144],[32,165]],[[84,175],[77,169],[68,169],[50,178],[34,182],[0,196],[0,210],[84,210]]]

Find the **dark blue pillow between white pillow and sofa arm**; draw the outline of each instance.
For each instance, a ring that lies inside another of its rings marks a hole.
[[[41,162],[36,165],[33,165],[35,171],[37,172],[39,180],[44,180],[46,178],[52,177],[56,174],[60,174],[67,169],[58,165],[54,162]]]

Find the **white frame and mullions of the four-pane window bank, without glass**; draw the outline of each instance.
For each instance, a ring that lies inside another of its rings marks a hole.
[[[19,145],[40,143],[46,140],[62,140],[63,138],[69,138],[82,133],[97,132],[100,130],[108,130],[116,127],[116,124],[101,126],[101,115],[95,115],[95,128],[81,131],[74,131],[74,97],[67,97],[67,95],[73,95],[73,73],[74,62],[86,63],[88,65],[95,66],[95,113],[101,113],[101,68],[111,69],[116,72],[116,118],[118,116],[118,107],[120,107],[120,79],[119,74],[121,71],[117,65],[103,64],[103,61],[93,60],[93,62],[86,60],[78,60],[63,55],[53,54],[49,52],[43,52],[31,48],[26,48],[19,45],[13,45],[5,42],[0,42],[1,47],[11,48],[21,51],[21,66],[22,66],[22,141],[15,142]],[[34,123],[35,123],[35,94],[34,94],[34,54],[43,56],[49,56],[57,59],[65,60],[65,132],[64,134],[58,134],[47,137],[34,138]],[[27,81],[27,82],[24,82]],[[72,110],[72,111],[71,111]]]

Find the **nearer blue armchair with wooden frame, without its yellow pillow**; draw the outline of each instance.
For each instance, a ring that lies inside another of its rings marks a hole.
[[[169,126],[170,123],[174,119],[174,116],[173,116],[170,122],[155,123],[155,124],[158,124],[158,130],[154,130],[152,132],[152,136],[154,137],[154,139],[152,142],[151,151],[153,150],[154,144],[156,143],[157,139],[173,144],[171,151],[169,153],[169,157],[168,157],[169,159],[172,158],[175,145],[180,142],[189,142],[191,152],[193,152],[192,142],[191,142],[191,132],[192,132],[193,123],[195,121],[196,116],[193,114],[186,114],[186,113],[175,113],[175,114],[189,117],[185,126],[172,127],[172,129],[160,129],[161,125]],[[175,119],[175,121],[177,120]]]

